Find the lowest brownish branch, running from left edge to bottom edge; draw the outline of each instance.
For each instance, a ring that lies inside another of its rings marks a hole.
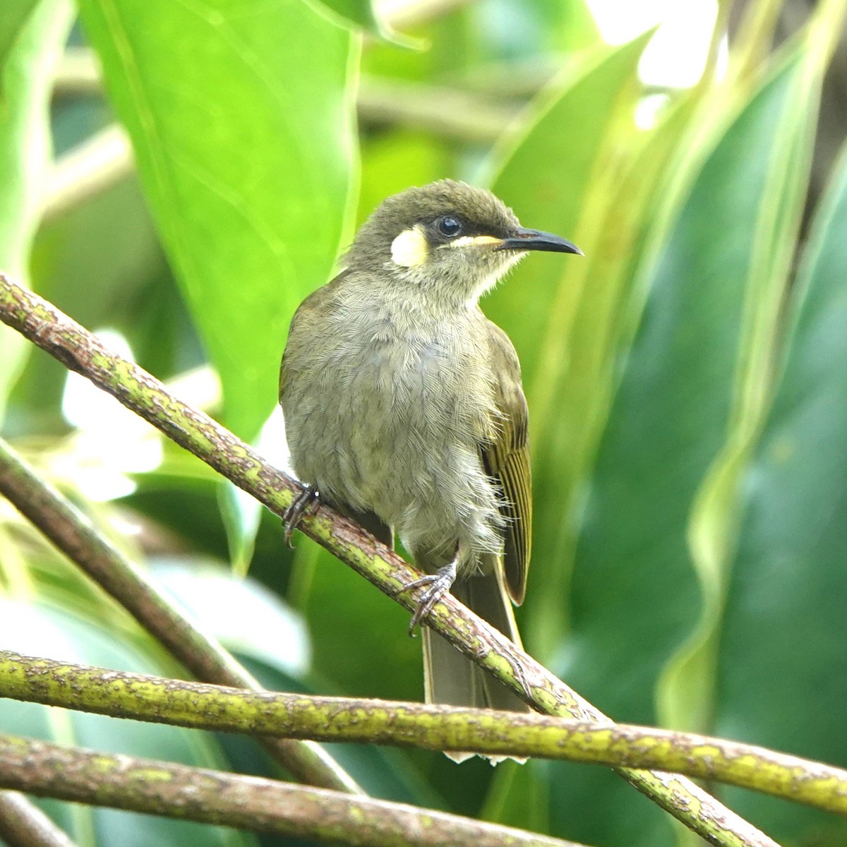
[[[337,844],[579,847],[386,800],[169,761],[93,753],[13,735],[0,735],[0,786],[40,797]]]

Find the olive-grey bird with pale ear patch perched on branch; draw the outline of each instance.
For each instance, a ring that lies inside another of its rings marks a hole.
[[[424,577],[409,632],[446,592],[520,645],[532,492],[518,355],[479,298],[529,252],[581,255],[524,229],[490,191],[439,180],[388,197],[335,279],[292,318],[280,367],[291,467],[307,485],[286,537],[319,500]],[[527,711],[504,684],[423,630],[429,703]]]

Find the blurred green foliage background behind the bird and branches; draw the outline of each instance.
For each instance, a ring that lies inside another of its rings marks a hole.
[[[7,0],[0,267],[284,464],[287,325],[357,223],[407,185],[491,187],[586,254],[531,258],[484,302],[529,398],[529,652],[616,720],[844,767],[844,6]],[[669,47],[687,62],[662,77]],[[269,687],[421,698],[406,612],[307,540],[287,550],[277,520],[4,327],[0,409]],[[5,501],[0,645],[182,673]],[[274,772],[244,739],[8,700],[0,728]],[[694,839],[600,768],[334,752],[386,798],[609,847]],[[783,844],[847,839],[714,788]],[[279,841],[45,806],[84,845]]]

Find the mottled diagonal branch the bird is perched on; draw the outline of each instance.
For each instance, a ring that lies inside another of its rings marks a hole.
[[[68,368],[115,396],[186,450],[282,516],[302,486],[272,468],[243,441],[169,394],[158,379],[110,353],[94,335],[41,297],[0,274],[0,320]],[[401,592],[421,574],[352,521],[319,506],[302,531],[410,612],[421,590]],[[398,593],[401,592],[401,593]],[[525,698],[538,711],[611,725],[573,689],[452,595],[435,604],[424,622]],[[695,783],[663,772],[617,772],[642,794],[711,844],[774,847],[767,835],[730,811]]]

